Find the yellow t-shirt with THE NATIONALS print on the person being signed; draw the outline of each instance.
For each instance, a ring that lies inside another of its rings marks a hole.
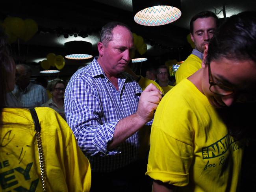
[[[161,100],[150,135],[147,173],[177,191],[236,191],[243,142],[208,99],[184,79]]]

